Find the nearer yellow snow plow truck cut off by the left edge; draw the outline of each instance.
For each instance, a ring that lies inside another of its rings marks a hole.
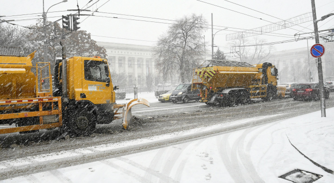
[[[49,62],[32,65],[36,51],[25,57],[21,47],[0,46],[0,134],[61,127],[73,135],[89,135],[96,124],[114,119],[123,119],[127,129],[134,105],[150,107],[145,99],[116,104],[118,86],[113,86],[107,60],[66,59],[64,45],[62,49],[52,76]]]

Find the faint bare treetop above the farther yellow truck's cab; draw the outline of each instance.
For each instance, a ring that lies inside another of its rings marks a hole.
[[[232,40],[231,46],[234,51],[238,51],[237,55],[241,62],[256,64],[267,61],[270,53],[275,49],[273,45],[263,45],[266,42],[265,39],[256,36],[252,41],[247,38]]]

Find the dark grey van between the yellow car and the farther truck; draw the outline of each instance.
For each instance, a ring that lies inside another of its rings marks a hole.
[[[169,97],[173,103],[183,102],[188,103],[190,100],[198,101],[200,99],[199,90],[191,91],[191,83],[179,84]]]

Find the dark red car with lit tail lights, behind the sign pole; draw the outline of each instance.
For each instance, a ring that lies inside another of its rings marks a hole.
[[[328,87],[324,87],[325,98],[330,98],[330,91]],[[292,97],[294,100],[306,99],[306,100],[319,100],[320,90],[318,83],[299,83],[292,89]]]

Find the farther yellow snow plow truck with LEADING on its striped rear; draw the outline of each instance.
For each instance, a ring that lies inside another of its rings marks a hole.
[[[207,105],[246,104],[251,99],[271,100],[277,95],[277,68],[271,63],[207,60],[193,69],[192,90],[200,90]]]

